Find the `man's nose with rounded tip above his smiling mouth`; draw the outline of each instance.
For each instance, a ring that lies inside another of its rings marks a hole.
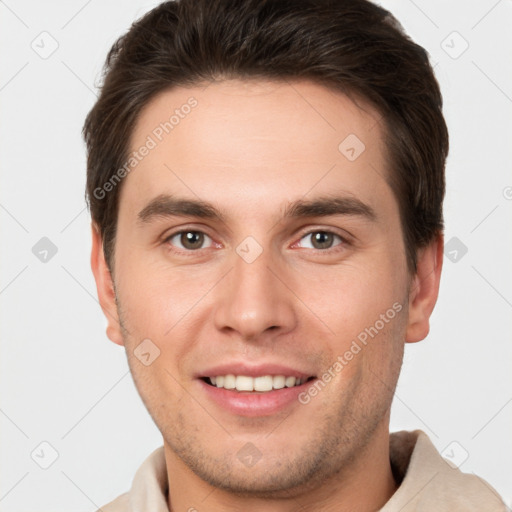
[[[273,339],[293,330],[297,323],[293,287],[269,251],[250,263],[235,253],[233,264],[217,289],[216,328],[245,341]]]

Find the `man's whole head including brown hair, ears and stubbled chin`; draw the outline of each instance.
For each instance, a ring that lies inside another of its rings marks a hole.
[[[167,453],[203,480],[278,495],[387,432],[437,298],[441,107],[367,1],[177,0],[114,44],[84,126],[93,270]],[[311,380],[235,414],[205,382],[226,363]]]

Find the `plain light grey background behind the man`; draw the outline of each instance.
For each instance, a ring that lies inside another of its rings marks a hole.
[[[391,429],[467,457],[461,469],[510,505],[512,2],[381,3],[435,64],[451,135],[446,241],[458,240],[431,333],[406,348]],[[108,49],[156,4],[0,1],[2,511],[95,510],[161,444],[105,335],[80,135]],[[46,262],[32,252],[42,237],[58,250]]]

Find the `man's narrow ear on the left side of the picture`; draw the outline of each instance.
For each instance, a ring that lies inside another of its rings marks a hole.
[[[107,318],[107,336],[114,343],[124,345],[117,314],[114,283],[107,262],[105,261],[102,242],[103,240],[98,226],[92,223],[91,268],[96,281],[100,306],[103,310],[103,314]]]

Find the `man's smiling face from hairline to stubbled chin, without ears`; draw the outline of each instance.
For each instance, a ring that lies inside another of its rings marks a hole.
[[[161,94],[138,120],[131,150],[156,147],[120,195],[110,336],[166,454],[216,486],[325,480],[387,435],[410,281],[378,118],[306,81],[226,81]]]

